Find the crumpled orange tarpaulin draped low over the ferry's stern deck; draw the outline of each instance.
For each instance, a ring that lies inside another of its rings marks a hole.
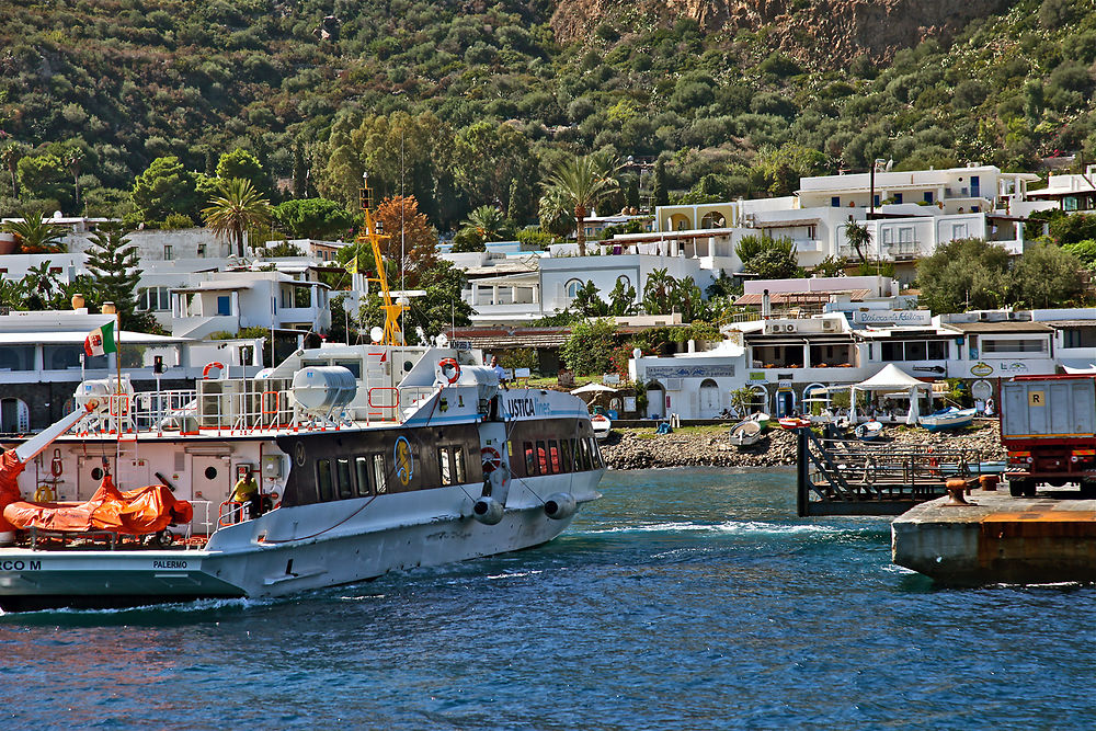
[[[141,536],[163,530],[172,523],[190,523],[194,509],[185,500],[175,500],[167,486],[122,492],[107,475],[85,503],[13,502],[3,509],[3,517],[23,529],[113,530]]]

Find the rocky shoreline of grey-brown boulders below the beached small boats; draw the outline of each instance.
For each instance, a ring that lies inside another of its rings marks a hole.
[[[672,434],[653,429],[614,429],[601,442],[602,456],[612,469],[661,467],[780,467],[796,464],[796,436],[770,430],[761,442],[744,449],[731,446],[727,429],[677,430]],[[923,429],[888,426],[884,442],[918,444],[949,449],[977,449],[984,461],[1006,458],[996,420],[979,420],[974,426],[955,434],[931,434]]]

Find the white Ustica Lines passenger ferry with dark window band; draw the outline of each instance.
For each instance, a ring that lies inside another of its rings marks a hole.
[[[472,351],[326,345],[194,391],[82,384],[83,415],[13,453],[19,494],[0,511],[36,518],[0,533],[0,608],[278,596],[551,540],[600,498],[586,407],[506,390],[481,363]],[[262,498],[229,500],[252,470]],[[83,515],[109,479],[165,486],[193,518],[148,535],[49,529],[65,523],[50,511]]]

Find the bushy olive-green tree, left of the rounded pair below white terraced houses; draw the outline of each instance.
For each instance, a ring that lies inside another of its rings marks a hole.
[[[984,239],[940,244],[917,264],[918,302],[933,312],[993,309],[1005,302],[1009,258]]]

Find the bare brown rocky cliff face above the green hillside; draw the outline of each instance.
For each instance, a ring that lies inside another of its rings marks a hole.
[[[666,25],[692,18],[705,32],[768,26],[776,47],[825,66],[860,54],[888,59],[925,38],[947,41],[971,20],[1008,4],[1011,0],[559,0],[551,24],[561,41],[582,38],[603,20],[619,18]]]

